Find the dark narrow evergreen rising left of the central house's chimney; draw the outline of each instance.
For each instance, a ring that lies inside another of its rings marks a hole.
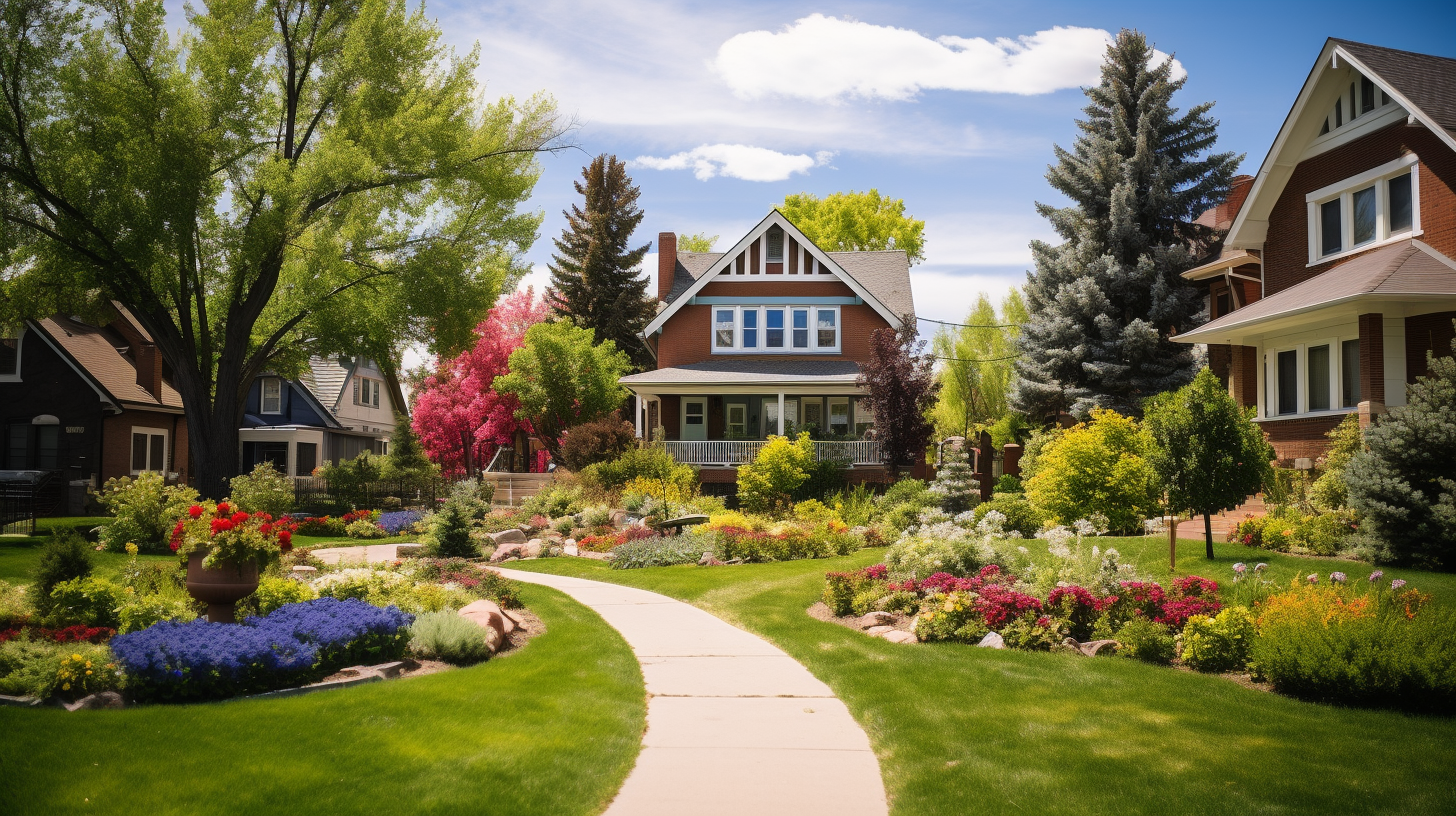
[[[649,278],[636,275],[651,245],[629,246],[645,216],[636,205],[641,191],[626,165],[606,153],[582,168],[581,176],[585,184],[575,185],[585,203],[563,213],[566,229],[552,255],[549,300],[559,315],[593,329],[597,342],[616,342],[641,369],[651,361],[641,332],[657,312],[657,300],[646,293]]]

